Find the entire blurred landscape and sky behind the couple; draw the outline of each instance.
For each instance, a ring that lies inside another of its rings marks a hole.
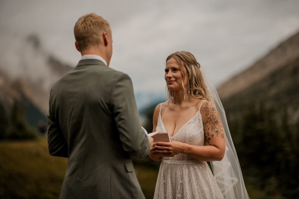
[[[132,78],[143,126],[166,100],[166,57],[191,52],[224,106],[250,198],[299,198],[299,1],[0,1],[0,198],[58,198],[67,159],[50,156],[51,86],[76,66],[73,27],[112,28],[111,68]],[[153,197],[159,162],[134,159]]]

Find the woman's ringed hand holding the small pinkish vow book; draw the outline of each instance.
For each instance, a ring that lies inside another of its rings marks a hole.
[[[176,155],[184,152],[186,144],[178,141],[157,142],[156,145],[152,148],[155,148],[154,151],[151,150],[152,153],[154,152],[157,154],[164,153],[167,155]]]

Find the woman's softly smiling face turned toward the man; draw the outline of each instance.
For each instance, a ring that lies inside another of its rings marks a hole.
[[[182,72],[184,72],[185,75],[184,87],[187,89],[187,83],[188,83],[187,70],[184,68],[184,71]],[[183,81],[182,72],[179,68],[179,65],[176,63],[175,58],[172,57],[166,62],[164,78],[170,90],[172,91],[184,90],[182,86],[182,81]]]

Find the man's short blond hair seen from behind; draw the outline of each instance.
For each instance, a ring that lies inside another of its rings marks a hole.
[[[111,28],[109,22],[95,13],[86,14],[78,19],[74,27],[74,35],[80,51],[89,46],[100,44],[100,35],[107,32],[111,39]]]

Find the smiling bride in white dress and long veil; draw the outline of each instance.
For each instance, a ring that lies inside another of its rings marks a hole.
[[[154,198],[249,198],[222,104],[195,57],[169,55],[164,77],[169,100],[155,108],[153,131],[171,142],[149,152],[162,160]]]

